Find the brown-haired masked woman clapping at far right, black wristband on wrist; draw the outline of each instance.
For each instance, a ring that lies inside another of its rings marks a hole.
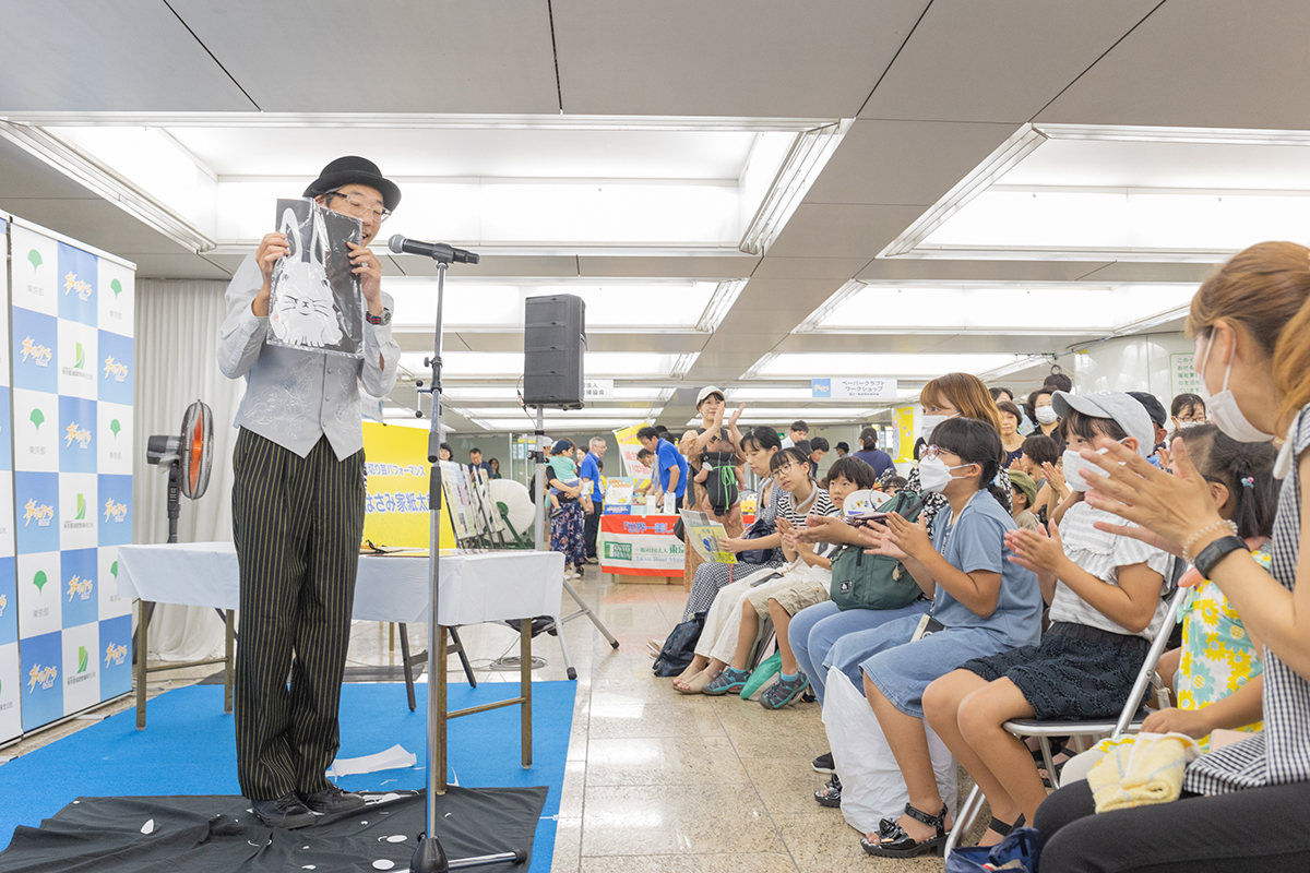
[[[1182,440],[1172,475],[1119,446],[1083,453],[1104,474],[1086,500],[1137,525],[1098,527],[1183,555],[1225,594],[1264,645],[1264,730],[1188,764],[1171,804],[1094,815],[1087,783],[1061,788],[1035,822],[1043,870],[1310,869],[1310,249],[1237,254],[1192,298],[1187,330],[1210,421],[1241,442],[1286,435],[1272,569],[1221,517]]]

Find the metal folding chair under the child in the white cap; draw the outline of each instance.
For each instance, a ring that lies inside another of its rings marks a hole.
[[[1128,700],[1124,702],[1124,709],[1119,713],[1119,719],[1110,721],[1107,719],[1102,720],[1087,720],[1087,721],[1038,721],[1036,719],[1015,719],[1014,721],[1006,721],[1002,728],[1013,733],[1015,737],[1036,737],[1038,742],[1041,743],[1041,760],[1047,767],[1047,776],[1051,779],[1052,789],[1060,788],[1060,780],[1056,775],[1056,766],[1051,755],[1051,737],[1078,737],[1082,738],[1095,738],[1102,734],[1110,734],[1111,737],[1117,737],[1129,730],[1141,730],[1142,721],[1146,720],[1146,708],[1142,705],[1142,698],[1146,694],[1146,686],[1151,685],[1153,681],[1158,682],[1155,675],[1155,665],[1159,662],[1159,656],[1165,653],[1165,647],[1169,645],[1169,636],[1174,630],[1174,616],[1178,614],[1178,609],[1183,605],[1187,594],[1191,592],[1188,588],[1179,588],[1174,592],[1172,597],[1169,598],[1169,607],[1165,610],[1165,622],[1159,626],[1159,631],[1155,632],[1155,639],[1151,641],[1150,649],[1146,652],[1146,660],[1142,661],[1142,669],[1137,673],[1137,681],[1133,682],[1133,690],[1128,692]],[[1083,749],[1079,749],[1083,751]],[[969,796],[964,800],[959,811],[955,815],[955,827],[951,828],[950,836],[946,839],[946,847],[943,851],[945,856],[950,856],[951,849],[955,848],[955,842],[960,834],[968,832],[973,827],[973,821],[977,818],[979,811],[982,809],[982,792],[975,784],[973,789],[969,791]]]

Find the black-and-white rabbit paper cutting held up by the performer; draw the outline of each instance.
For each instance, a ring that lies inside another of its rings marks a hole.
[[[359,243],[358,219],[313,200],[278,200],[278,230],[290,253],[272,270],[269,342],[363,356],[364,309],[347,242]]]

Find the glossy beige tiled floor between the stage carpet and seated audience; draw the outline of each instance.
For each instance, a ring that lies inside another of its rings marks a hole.
[[[614,650],[586,618],[565,626],[578,669],[578,696],[555,839],[555,873],[800,873],[823,870],[942,870],[941,859],[872,859],[838,810],[811,798],[824,777],[810,760],[828,750],[816,704],[769,712],[736,696],[681,696],[656,679],[646,640],[679,622],[681,585],[618,585],[595,569],[578,592],[618,639]],[[571,606],[566,597],[566,609]],[[426,626],[410,641],[426,647]],[[507,627],[461,631],[479,682],[515,682],[493,670],[517,654]],[[546,665],[538,681],[565,679],[558,641],[541,635],[533,653]],[[359,622],[348,662],[397,664],[388,627]],[[152,696],[189,685],[217,666],[151,674]],[[452,681],[458,662],[451,660]],[[132,705],[119,702],[97,715]],[[71,721],[4,750],[22,754],[77,730]]]

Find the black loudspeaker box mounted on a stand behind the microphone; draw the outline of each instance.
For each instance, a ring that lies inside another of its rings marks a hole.
[[[586,351],[587,304],[582,297],[528,297],[523,317],[523,402],[580,410]]]

